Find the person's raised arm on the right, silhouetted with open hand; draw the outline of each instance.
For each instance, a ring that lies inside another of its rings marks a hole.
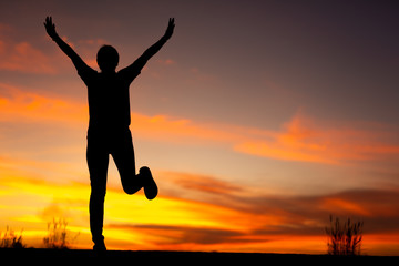
[[[174,18],[170,18],[165,34],[152,47],[145,50],[145,52],[140,58],[137,58],[136,61],[134,61],[131,65],[123,69],[122,71],[127,72],[131,75],[134,75],[135,73],[140,72],[144,68],[146,62],[161,50],[161,48],[167,42],[168,39],[171,39],[174,27],[175,27]]]

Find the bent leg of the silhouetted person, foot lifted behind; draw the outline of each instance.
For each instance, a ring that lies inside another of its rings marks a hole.
[[[147,200],[156,197],[157,186],[150,168],[142,167],[139,174],[135,174],[133,141],[129,129],[115,137],[111,154],[120,172],[123,190],[127,194],[134,194],[144,187]]]

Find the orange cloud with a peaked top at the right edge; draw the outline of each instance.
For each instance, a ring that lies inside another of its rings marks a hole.
[[[358,127],[356,127],[358,125]],[[339,164],[398,156],[398,129],[382,124],[323,125],[304,114],[285,123],[273,140],[238,143],[235,150],[257,156]]]

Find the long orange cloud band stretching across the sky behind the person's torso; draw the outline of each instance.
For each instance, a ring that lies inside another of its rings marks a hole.
[[[85,103],[0,83],[0,122],[59,122],[82,126]],[[196,123],[167,115],[131,113],[132,132],[143,139],[188,145],[219,145],[239,153],[287,161],[342,164],[399,158],[399,129],[378,123],[316,121],[303,113],[280,131]]]

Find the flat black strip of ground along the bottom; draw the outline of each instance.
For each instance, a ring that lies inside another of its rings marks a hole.
[[[120,252],[95,255],[92,250],[57,250],[40,248],[1,249],[0,265],[365,265],[379,263],[398,265],[398,257],[267,254],[267,253],[201,253],[201,252]]]

